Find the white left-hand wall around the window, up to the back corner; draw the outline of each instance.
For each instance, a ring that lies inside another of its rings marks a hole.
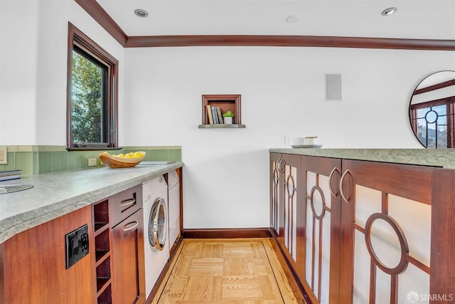
[[[120,61],[122,109],[124,48],[74,0],[1,0],[0,145],[66,145],[68,21]]]

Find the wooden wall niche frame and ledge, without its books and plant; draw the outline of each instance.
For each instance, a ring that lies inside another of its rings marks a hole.
[[[209,122],[208,105],[220,107],[222,113],[231,111],[234,114],[232,118],[232,125],[225,125],[224,123],[211,124]],[[210,127],[228,127],[228,128],[243,128],[242,125],[242,108],[241,108],[241,95],[240,94],[212,94],[202,95],[202,125],[199,128]]]

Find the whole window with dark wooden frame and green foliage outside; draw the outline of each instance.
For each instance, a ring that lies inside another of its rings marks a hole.
[[[70,23],[68,149],[117,147],[118,61]]]

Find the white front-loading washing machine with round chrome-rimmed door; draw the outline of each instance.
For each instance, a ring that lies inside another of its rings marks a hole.
[[[164,177],[142,184],[144,200],[145,291],[148,298],[169,259],[168,185]]]

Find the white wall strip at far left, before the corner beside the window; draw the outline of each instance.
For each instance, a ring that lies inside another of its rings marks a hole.
[[[0,145],[35,142],[38,0],[0,1]]]

